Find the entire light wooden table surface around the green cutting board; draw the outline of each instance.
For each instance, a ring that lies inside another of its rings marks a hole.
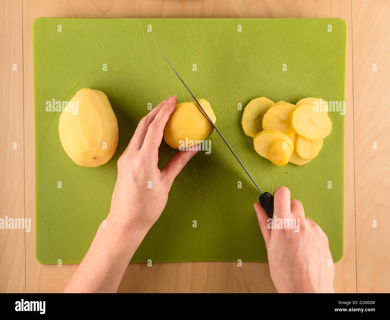
[[[77,265],[35,259],[32,22],[38,17],[313,18],[348,27],[344,257],[337,292],[390,292],[390,1],[0,0],[0,292],[61,292]],[[16,143],[16,144],[15,144]],[[373,145],[376,144],[376,149]],[[130,264],[119,292],[276,292],[266,262]]]

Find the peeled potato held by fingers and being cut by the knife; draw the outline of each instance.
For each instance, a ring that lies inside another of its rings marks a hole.
[[[209,102],[204,99],[197,100],[210,120],[215,123],[216,117]],[[195,102],[182,102],[177,104],[165,125],[164,140],[174,149],[184,149],[206,140],[213,130],[214,127]]]

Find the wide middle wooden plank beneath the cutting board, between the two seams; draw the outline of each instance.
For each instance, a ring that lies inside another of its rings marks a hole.
[[[260,17],[341,17],[351,24],[350,1],[24,1],[24,109],[25,109],[25,186],[26,216],[34,219],[34,94],[32,73],[32,22],[40,16],[51,17],[192,17],[192,18],[260,18]],[[346,101],[352,110],[351,29],[348,29]],[[353,185],[353,121],[346,114],[346,201],[344,258],[335,264],[335,290],[356,292],[355,216]],[[35,230],[35,226],[34,226]],[[76,265],[42,265],[35,259],[34,232],[26,238],[27,292],[62,291]],[[275,292],[268,264],[246,262],[175,262],[130,264],[119,288],[120,292]]]

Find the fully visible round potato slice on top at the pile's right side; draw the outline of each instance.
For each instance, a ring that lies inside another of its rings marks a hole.
[[[264,115],[264,119],[266,119],[266,115]],[[324,112],[314,111],[312,104],[298,106],[293,111],[292,124],[298,135],[309,140],[323,139],[332,131],[332,121],[328,115]]]

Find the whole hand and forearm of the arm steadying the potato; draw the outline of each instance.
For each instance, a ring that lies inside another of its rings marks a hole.
[[[160,217],[173,180],[197,151],[178,151],[162,170],[158,147],[176,108],[169,97],[141,119],[118,160],[108,217],[64,292],[116,292],[131,257]],[[195,148],[197,149],[197,148]]]

